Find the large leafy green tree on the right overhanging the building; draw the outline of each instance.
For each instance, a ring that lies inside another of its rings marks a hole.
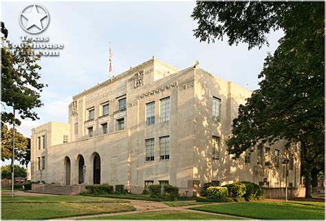
[[[248,43],[250,50],[268,44],[270,31],[283,30],[279,47],[265,59],[259,90],[233,120],[228,151],[238,158],[263,143],[300,142],[306,197],[312,169],[325,154],[324,8],[323,2],[197,2],[192,14],[194,35],[208,43],[227,35],[230,45]]]

